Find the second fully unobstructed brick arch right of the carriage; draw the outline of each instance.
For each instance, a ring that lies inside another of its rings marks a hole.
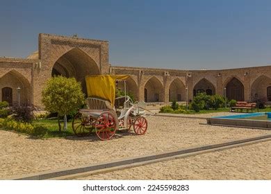
[[[175,78],[170,84],[170,101],[176,100],[178,102],[186,100],[186,87],[183,82],[178,78]]]

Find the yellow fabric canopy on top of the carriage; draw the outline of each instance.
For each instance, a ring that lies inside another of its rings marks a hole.
[[[103,75],[86,76],[85,84],[87,86],[88,97],[99,97],[109,100],[111,105],[115,103],[115,81],[129,78],[126,75]]]

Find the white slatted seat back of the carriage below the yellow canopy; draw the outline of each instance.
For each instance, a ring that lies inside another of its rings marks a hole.
[[[114,109],[108,100],[96,96],[86,98],[85,103],[88,105],[89,109],[102,109],[102,110]]]

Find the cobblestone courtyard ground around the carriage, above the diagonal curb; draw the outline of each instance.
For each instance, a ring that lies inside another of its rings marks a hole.
[[[0,130],[0,179],[204,144],[243,139],[267,130],[201,125],[202,119],[150,116],[145,135],[118,132],[110,141],[96,136],[69,139],[31,139]]]

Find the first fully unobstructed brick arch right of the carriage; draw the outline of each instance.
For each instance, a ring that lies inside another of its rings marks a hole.
[[[145,84],[145,102],[154,103],[154,102],[163,102],[163,85],[156,77],[150,78]]]

